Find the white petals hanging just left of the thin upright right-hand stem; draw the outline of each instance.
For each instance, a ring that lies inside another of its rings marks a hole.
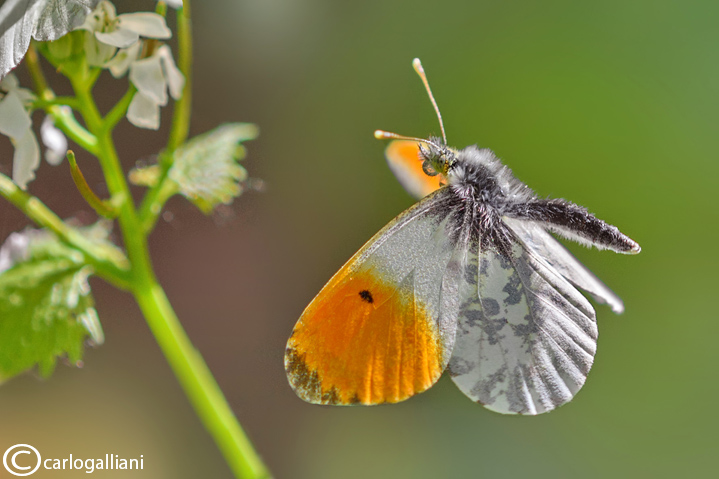
[[[175,100],[182,96],[185,77],[172,59],[172,50],[163,45],[149,58],[130,64],[130,81],[137,93],[127,109],[127,119],[139,128],[160,127],[160,107],[167,105],[167,90]]]

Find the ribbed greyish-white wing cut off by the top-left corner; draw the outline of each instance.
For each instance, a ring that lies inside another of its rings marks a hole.
[[[82,24],[99,0],[6,0],[0,7],[0,78],[15,68],[30,39],[52,41]]]

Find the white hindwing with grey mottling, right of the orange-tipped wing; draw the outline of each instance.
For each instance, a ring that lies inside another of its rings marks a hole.
[[[449,370],[462,392],[493,411],[551,411],[572,399],[592,366],[594,310],[501,221],[495,227],[508,241],[474,233]]]

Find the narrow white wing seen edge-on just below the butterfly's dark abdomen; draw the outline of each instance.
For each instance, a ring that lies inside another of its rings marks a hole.
[[[624,303],[614,291],[584,266],[541,224],[513,218],[503,218],[524,245],[547,260],[555,270],[578,288],[583,289],[600,304],[608,304],[616,314],[624,312]]]

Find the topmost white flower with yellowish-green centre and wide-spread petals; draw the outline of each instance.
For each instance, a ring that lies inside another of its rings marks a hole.
[[[172,37],[164,17],[157,13],[137,12],[117,15],[115,6],[103,0],[77,27],[90,34],[85,37],[85,55],[92,66],[104,67],[118,48],[136,44],[140,37],[166,40]]]

